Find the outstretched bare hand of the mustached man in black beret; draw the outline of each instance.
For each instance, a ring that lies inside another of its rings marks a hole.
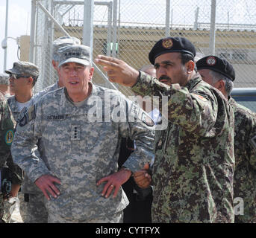
[[[119,83],[123,86],[134,86],[139,76],[139,71],[132,68],[126,62],[113,57],[99,55],[94,60],[97,64],[104,66],[110,82]]]

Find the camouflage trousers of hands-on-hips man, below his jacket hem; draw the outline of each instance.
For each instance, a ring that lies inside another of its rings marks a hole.
[[[49,223],[122,223],[123,221],[123,211],[119,211],[114,214],[107,214],[104,217],[98,217],[96,219],[78,220],[72,218],[63,218],[57,213],[49,213],[48,222]]]

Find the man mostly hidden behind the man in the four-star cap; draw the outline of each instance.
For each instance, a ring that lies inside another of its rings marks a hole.
[[[57,38],[54,40],[53,44],[52,44],[52,48],[53,48],[53,54],[52,54],[52,66],[55,69],[55,71],[57,71],[58,74],[58,80],[56,81],[56,83],[54,83],[53,85],[47,87],[46,89],[43,89],[42,91],[39,91],[36,94],[37,98],[42,97],[44,94],[46,94],[49,91],[54,91],[56,89],[60,89],[63,87],[63,83],[61,81],[60,78],[60,74],[58,73],[59,68],[59,55],[57,54],[57,51],[59,50],[59,48],[61,47],[65,47],[66,45],[81,45],[80,39],[76,38],[76,37],[68,37],[68,36],[61,36],[60,38]]]

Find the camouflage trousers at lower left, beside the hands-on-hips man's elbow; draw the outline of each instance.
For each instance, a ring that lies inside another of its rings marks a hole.
[[[47,223],[48,212],[43,193],[29,193],[26,199],[24,193],[19,193],[19,213],[24,223]]]

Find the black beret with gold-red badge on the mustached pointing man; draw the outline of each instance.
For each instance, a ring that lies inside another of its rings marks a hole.
[[[155,43],[152,50],[149,52],[149,61],[154,65],[154,60],[161,54],[181,52],[196,56],[195,46],[184,37],[166,37]]]

